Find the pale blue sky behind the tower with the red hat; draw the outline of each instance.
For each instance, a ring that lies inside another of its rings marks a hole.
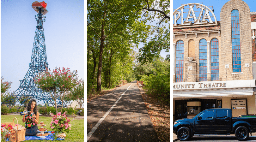
[[[36,30],[35,0],[1,0],[1,76],[18,89],[29,63]],[[38,1],[42,2],[42,1]],[[43,23],[49,68],[77,70],[84,79],[83,0],[45,1],[49,11]]]

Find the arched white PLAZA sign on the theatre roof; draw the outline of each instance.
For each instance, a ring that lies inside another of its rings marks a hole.
[[[188,14],[186,16],[186,20],[183,21],[184,20],[183,14],[185,13],[183,11],[184,11],[184,7],[187,5],[189,6],[189,10],[188,10]],[[197,8],[198,10],[200,10],[198,18],[196,17],[193,8]],[[203,14],[203,11],[204,11],[204,14]],[[213,20],[211,19],[209,12],[212,14],[215,23],[213,23]],[[173,12],[173,15],[174,15],[174,26],[177,26],[176,22],[179,19],[180,19],[180,26],[190,26],[190,25],[192,25],[192,21],[189,21],[189,19],[192,19],[192,18],[194,19],[194,25],[206,24],[208,22],[206,19],[209,20],[210,25],[217,25],[217,22],[216,22],[217,20],[216,20],[214,13],[212,12],[212,10],[209,9],[207,6],[200,4],[200,3],[184,4],[184,5],[180,6],[179,8],[175,9]],[[201,17],[202,17],[202,20],[200,20]]]

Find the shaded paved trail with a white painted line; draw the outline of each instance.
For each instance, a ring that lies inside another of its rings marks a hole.
[[[136,81],[87,103],[87,141],[159,141]]]

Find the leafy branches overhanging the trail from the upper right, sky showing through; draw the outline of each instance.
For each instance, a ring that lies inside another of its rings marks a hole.
[[[154,57],[158,58],[162,50],[166,50],[166,52],[170,50],[170,1],[143,0],[142,3],[143,8],[138,11],[143,11],[143,20],[157,23],[152,26],[150,32],[155,35],[154,38],[151,38],[148,43],[143,42],[144,45],[140,49],[138,61],[144,64],[152,62]],[[166,60],[170,61],[170,54],[167,55]]]

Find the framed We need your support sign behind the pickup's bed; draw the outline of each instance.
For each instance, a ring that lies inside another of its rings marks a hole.
[[[231,99],[231,109],[233,117],[247,115],[247,99]]]

